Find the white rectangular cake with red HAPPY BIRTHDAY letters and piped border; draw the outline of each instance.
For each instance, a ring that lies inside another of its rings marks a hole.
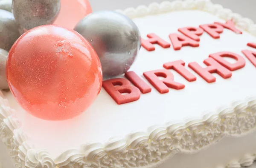
[[[0,98],[3,168],[240,168],[256,159],[256,25],[207,0],[117,12],[140,30],[128,72],[70,120]],[[0,166],[1,166],[0,165]]]

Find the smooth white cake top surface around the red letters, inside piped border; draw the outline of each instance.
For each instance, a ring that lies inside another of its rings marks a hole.
[[[178,28],[198,27],[216,21],[225,22],[212,14],[197,10],[174,11],[134,19],[143,38],[146,39],[149,33],[155,33],[167,42],[170,42],[169,34],[177,33]],[[183,60],[186,68],[195,74],[197,80],[188,82],[172,71],[174,80],[186,85],[182,90],[170,89],[169,93],[160,94],[151,85],[152,91],[142,94],[139,100],[117,105],[102,88],[97,100],[84,114],[73,120],[59,122],[32,117],[23,111],[14,100],[10,102],[11,107],[18,111],[17,115],[23,123],[24,131],[29,135],[29,140],[36,148],[47,149],[53,156],[70,148],[79,148],[84,143],[105,143],[111,137],[125,137],[132,132],[145,132],[152,125],[201,119],[203,114],[216,111],[221,105],[230,105],[236,100],[244,100],[246,97],[256,95],[256,78],[254,77],[256,67],[247,59],[245,67],[233,71],[230,79],[223,79],[218,74],[214,74],[216,77],[214,83],[207,83],[187,67],[188,63],[194,61],[205,67],[204,59],[209,54],[220,51],[230,51],[244,57],[241,50],[252,49],[247,47],[247,43],[256,42],[256,38],[246,31],[243,31],[243,34],[236,34],[224,29],[220,36],[220,39],[213,39],[204,32],[200,37],[199,47],[186,46],[180,51],[175,51],[172,46],[162,48],[154,45],[155,51],[141,48],[131,71],[136,72],[147,82],[143,77],[143,72],[163,69],[163,63]],[[252,50],[256,51],[256,49]]]

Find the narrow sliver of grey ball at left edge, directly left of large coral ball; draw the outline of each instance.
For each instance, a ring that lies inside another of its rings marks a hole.
[[[6,79],[6,60],[8,52],[0,48],[0,89],[9,89]]]

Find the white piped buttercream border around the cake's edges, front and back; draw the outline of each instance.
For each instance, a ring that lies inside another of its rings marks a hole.
[[[208,0],[164,1],[118,12],[134,19],[188,9],[207,11],[225,20],[232,19],[236,26],[256,35],[256,25],[252,20]],[[152,126],[147,133],[129,134],[123,139],[111,139],[106,144],[81,145],[80,149],[66,151],[53,159],[48,152],[28,145],[15,111],[10,108],[8,100],[3,98],[2,92],[0,94],[0,138],[9,148],[17,168],[149,167],[177,153],[198,152],[224,136],[238,137],[256,129],[256,98],[250,98],[236,102],[230,108],[209,113],[202,119]],[[251,157],[255,159],[255,155]],[[237,163],[240,166],[250,165],[247,164],[248,157],[244,160]],[[252,159],[249,160],[251,163]]]

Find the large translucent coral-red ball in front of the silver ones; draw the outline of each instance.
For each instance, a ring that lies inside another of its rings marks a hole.
[[[101,63],[90,43],[54,25],[32,28],[14,43],[6,76],[17,102],[43,120],[78,116],[102,87]]]

